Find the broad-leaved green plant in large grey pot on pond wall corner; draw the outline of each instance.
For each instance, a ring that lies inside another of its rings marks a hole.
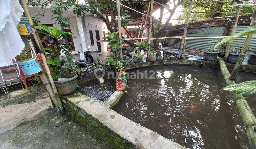
[[[50,51],[49,59],[46,61],[55,72],[53,73],[55,78],[55,85],[60,95],[67,95],[75,92],[76,90],[76,78],[78,75],[75,73],[77,70],[76,66],[73,64],[73,56],[70,52],[70,47],[66,39],[66,36],[72,35],[71,32],[58,31],[57,27],[49,29],[47,26],[39,24],[38,33],[45,34],[44,39],[48,39],[49,44],[52,47],[44,48],[43,51]],[[59,58],[59,52],[65,54],[64,59]],[[57,75],[58,74],[58,75]]]

